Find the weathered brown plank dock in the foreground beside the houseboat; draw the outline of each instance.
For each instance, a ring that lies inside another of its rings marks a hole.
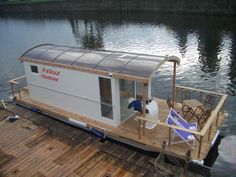
[[[19,120],[6,122],[11,114]],[[9,104],[0,110],[0,176],[160,176],[153,161],[25,108]]]

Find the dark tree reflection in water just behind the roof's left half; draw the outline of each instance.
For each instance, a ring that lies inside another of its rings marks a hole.
[[[83,48],[102,49],[102,28],[92,20],[84,20],[84,30],[82,31],[77,19],[69,19],[74,38]]]

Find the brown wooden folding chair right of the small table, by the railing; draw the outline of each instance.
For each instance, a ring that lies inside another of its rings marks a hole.
[[[201,105],[197,108],[198,110],[200,110],[200,115],[196,114],[196,118],[201,128],[203,124],[207,121],[208,117],[210,117],[211,112],[213,110],[214,102],[215,97],[212,95],[207,95],[204,105]]]

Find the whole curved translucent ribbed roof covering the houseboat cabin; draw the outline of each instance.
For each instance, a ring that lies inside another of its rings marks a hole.
[[[117,73],[119,75],[148,79],[165,61],[176,61],[175,56],[154,56],[145,54],[97,51],[81,48],[39,45],[26,51],[21,60],[41,61],[94,70]],[[46,64],[45,63],[45,64]]]

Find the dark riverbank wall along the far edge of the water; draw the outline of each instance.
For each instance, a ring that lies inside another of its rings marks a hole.
[[[0,12],[148,11],[163,13],[236,15],[235,0],[68,0],[1,3]]]

